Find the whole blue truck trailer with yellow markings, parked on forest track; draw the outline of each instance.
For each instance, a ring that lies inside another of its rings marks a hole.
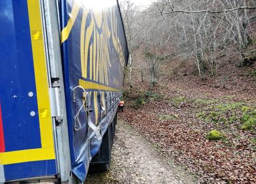
[[[128,60],[116,0],[0,1],[0,183],[107,170]]]

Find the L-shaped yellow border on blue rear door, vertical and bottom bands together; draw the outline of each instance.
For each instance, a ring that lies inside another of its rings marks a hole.
[[[44,41],[42,39],[40,1],[27,0],[27,8],[29,13],[29,27],[35,70],[35,84],[37,89],[37,104],[39,109],[39,126],[42,148],[0,153],[0,165],[46,161],[56,158],[54,151],[52,118],[50,115],[48,75]]]

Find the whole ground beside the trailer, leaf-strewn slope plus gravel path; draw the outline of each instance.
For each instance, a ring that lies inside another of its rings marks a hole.
[[[204,80],[170,65],[155,87],[135,74],[110,171],[87,182],[256,183],[256,65]]]

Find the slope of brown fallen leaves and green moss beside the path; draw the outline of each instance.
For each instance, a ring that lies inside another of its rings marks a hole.
[[[255,84],[248,70],[136,82],[120,117],[199,183],[256,183]]]

